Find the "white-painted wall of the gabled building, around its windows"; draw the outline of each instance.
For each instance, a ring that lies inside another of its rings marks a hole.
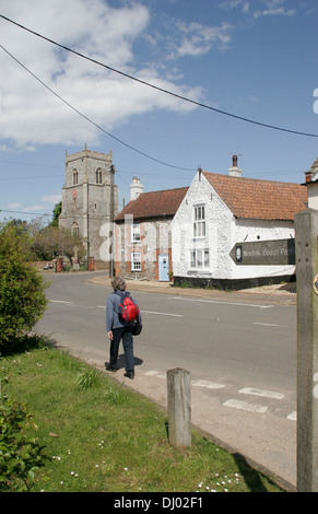
[[[205,237],[193,237],[193,208],[205,207]],[[199,172],[172,223],[172,257],[176,277],[244,279],[293,274],[295,266],[237,266],[229,257],[236,243],[294,237],[294,223],[285,221],[237,220]],[[210,250],[209,269],[193,269],[192,249]]]

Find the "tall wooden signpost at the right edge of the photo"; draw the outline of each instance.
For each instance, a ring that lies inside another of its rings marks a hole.
[[[295,217],[297,490],[318,492],[318,211]]]

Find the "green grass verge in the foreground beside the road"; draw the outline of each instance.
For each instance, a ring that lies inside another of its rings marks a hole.
[[[19,476],[5,486],[0,444],[0,492],[283,492],[196,430],[191,447],[172,447],[151,400],[44,337],[27,342],[0,358],[0,429],[7,398],[25,406],[23,435],[37,440],[40,459],[27,489]]]

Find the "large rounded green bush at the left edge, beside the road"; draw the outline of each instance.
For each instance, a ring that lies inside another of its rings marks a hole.
[[[46,309],[47,284],[27,264],[30,258],[28,234],[11,223],[0,226],[0,352],[31,330]]]

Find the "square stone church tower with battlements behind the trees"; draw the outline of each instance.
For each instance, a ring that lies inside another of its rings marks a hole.
[[[85,149],[68,155],[66,183],[62,188],[62,210],[59,226],[83,238],[87,257],[105,260],[99,250],[109,234],[118,211],[118,191],[111,152],[91,152]],[[103,227],[103,229],[102,229]]]

